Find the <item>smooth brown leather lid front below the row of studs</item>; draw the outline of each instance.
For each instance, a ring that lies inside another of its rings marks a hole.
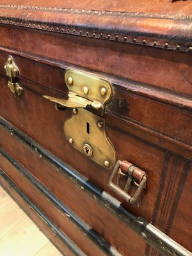
[[[10,26],[0,26],[0,33],[0,45],[22,56],[36,59],[35,54],[192,95],[191,54]]]

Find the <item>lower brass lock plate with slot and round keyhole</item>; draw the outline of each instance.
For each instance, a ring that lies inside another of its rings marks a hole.
[[[72,147],[111,170],[116,152],[106,135],[106,120],[86,109],[74,109],[64,124],[65,136]]]

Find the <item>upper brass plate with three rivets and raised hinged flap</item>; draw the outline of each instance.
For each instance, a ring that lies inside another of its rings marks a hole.
[[[90,108],[98,115],[104,114],[104,107],[112,97],[108,81],[84,72],[67,70],[65,83],[69,91],[67,100],[47,95],[43,97],[67,108]]]

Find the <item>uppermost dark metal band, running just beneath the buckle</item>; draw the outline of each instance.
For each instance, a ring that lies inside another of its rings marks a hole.
[[[83,188],[84,193],[89,195],[94,200],[97,200],[102,207],[111,212],[111,214],[116,216],[116,218],[124,223],[124,225],[131,228],[148,244],[156,248],[157,251],[168,256],[192,256],[192,253],[186,250],[186,248],[173,241],[173,239],[170,237],[166,236],[166,234],[161,232],[161,230],[148,223],[147,220],[141,217],[137,218],[131,214],[131,212],[127,211],[121,206],[121,203],[116,200],[116,198],[90,182],[90,180],[86,179],[72,167],[61,161],[61,159],[51,154],[51,152],[48,150],[45,150],[45,148],[36,143],[35,140],[29,138],[29,136],[21,132],[3,118],[0,119],[0,125],[4,127],[6,131],[10,132],[12,136],[17,138],[22,145],[24,145],[24,147],[40,156],[42,161],[45,161],[45,163],[49,164],[49,166],[55,168],[56,170],[61,170],[66,179],[76,184],[76,186],[78,186],[80,189]]]

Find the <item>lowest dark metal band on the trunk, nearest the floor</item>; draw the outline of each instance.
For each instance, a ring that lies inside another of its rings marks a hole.
[[[47,216],[42,212],[29,198],[26,196],[22,191],[19,189],[17,185],[6,175],[2,170],[0,170],[0,175],[3,177],[4,180],[9,184],[11,188],[15,190],[15,192],[24,200],[33,211],[35,211],[38,216],[44,221],[44,223],[51,228],[51,230],[56,234],[56,236],[60,237],[61,241],[67,245],[67,247],[74,253],[74,255],[78,256],[85,256],[85,254],[77,248],[76,244],[74,244],[66,235],[65,233],[61,232],[60,228],[58,228],[54,223],[47,218]],[[3,184],[1,184],[3,186]]]

